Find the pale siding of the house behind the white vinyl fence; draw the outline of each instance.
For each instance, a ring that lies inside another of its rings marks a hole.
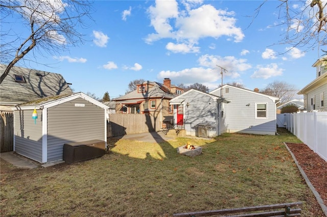
[[[321,93],[323,93],[323,98],[324,98],[323,107],[320,106]],[[313,110],[327,111],[327,84],[315,88],[314,90],[310,91],[308,94],[304,94],[303,98],[304,98],[305,109],[307,109],[307,111],[310,112]],[[313,106],[311,105],[311,98],[315,98],[315,109],[313,109]]]

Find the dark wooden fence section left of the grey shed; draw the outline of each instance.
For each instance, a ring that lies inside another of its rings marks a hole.
[[[0,118],[0,152],[14,150],[14,113],[2,112]]]

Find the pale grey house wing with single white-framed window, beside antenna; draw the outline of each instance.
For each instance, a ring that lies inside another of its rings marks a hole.
[[[258,88],[251,91],[231,85],[224,85],[209,94],[231,101],[222,104],[220,132],[275,135],[277,97],[259,93]]]

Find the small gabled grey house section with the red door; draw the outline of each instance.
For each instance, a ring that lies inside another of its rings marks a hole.
[[[170,100],[174,124],[183,125],[186,135],[215,137],[221,133],[221,105],[229,102],[213,94],[188,90]]]

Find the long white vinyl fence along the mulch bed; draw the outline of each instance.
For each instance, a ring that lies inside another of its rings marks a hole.
[[[327,161],[327,112],[278,114],[277,116],[282,124],[278,127],[286,127]]]

